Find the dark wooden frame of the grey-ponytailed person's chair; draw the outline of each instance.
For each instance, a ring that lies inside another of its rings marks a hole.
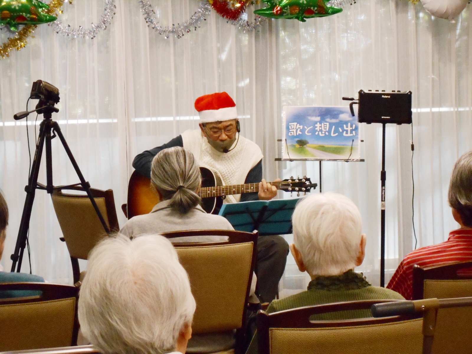
[[[244,301],[244,310],[243,310],[243,317],[241,321],[241,327],[236,329],[236,346],[235,346],[235,353],[240,354],[244,353],[244,341],[245,341],[245,324],[246,324],[246,310],[248,307],[248,298],[249,293],[251,291],[251,279],[254,272],[254,266],[256,262],[257,256],[257,238],[259,236],[258,231],[253,232],[244,232],[244,231],[235,231],[235,230],[185,230],[185,231],[173,231],[173,232],[166,232],[163,233],[162,236],[171,239],[177,237],[187,237],[187,236],[227,236],[227,241],[219,241],[219,242],[211,242],[211,243],[200,243],[200,242],[192,242],[192,243],[173,243],[174,247],[189,247],[189,246],[217,246],[217,245],[227,245],[227,244],[239,244],[239,243],[246,243],[252,242],[253,246],[253,253],[251,256],[251,269],[250,269],[250,277],[249,282],[246,288],[246,295]]]

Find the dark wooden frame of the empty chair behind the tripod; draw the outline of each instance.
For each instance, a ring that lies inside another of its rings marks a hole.
[[[84,188],[81,186],[68,187],[67,189],[85,192]],[[105,218],[105,221],[108,222],[110,233],[118,232],[119,225],[118,225],[117,212],[115,209],[115,198],[113,196],[113,190],[107,189],[106,191],[102,191],[101,189],[90,188],[90,192],[92,193],[93,198],[105,199],[105,206],[107,210],[107,218]],[[60,189],[55,189],[52,192],[52,194],[55,196],[66,197],[66,198],[69,197],[69,198],[87,198],[88,199],[87,194],[66,194],[66,193],[63,193],[62,190]],[[103,229],[103,232],[105,232],[105,229]],[[65,242],[64,237],[60,237],[60,240]],[[70,261],[72,263],[72,275],[73,275],[74,284],[75,284],[76,282],[79,281],[79,278],[80,278],[79,261],[76,257],[72,257],[72,256],[70,256]]]

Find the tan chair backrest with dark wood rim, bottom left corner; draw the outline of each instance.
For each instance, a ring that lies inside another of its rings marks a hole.
[[[41,295],[0,299],[0,351],[76,345],[77,287],[4,283],[3,290],[35,290]]]

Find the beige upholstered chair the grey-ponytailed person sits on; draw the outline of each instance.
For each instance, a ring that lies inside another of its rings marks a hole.
[[[256,257],[257,231],[193,230],[163,234],[227,236],[215,243],[174,243],[196,302],[187,353],[244,351],[245,314]],[[205,237],[206,240],[208,238]],[[172,241],[172,240],[171,240]],[[236,330],[236,341],[233,335]]]

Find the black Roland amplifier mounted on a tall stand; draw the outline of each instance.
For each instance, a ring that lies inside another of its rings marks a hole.
[[[359,123],[412,123],[412,92],[359,91]]]

